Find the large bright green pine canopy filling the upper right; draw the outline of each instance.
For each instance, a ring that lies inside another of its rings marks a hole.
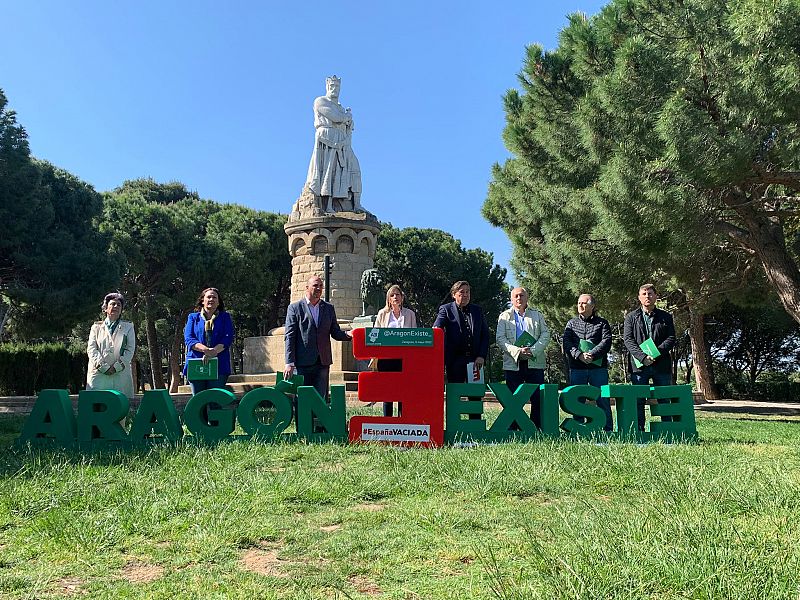
[[[708,297],[755,264],[800,321],[798,37],[792,0],[612,0],[530,46],[483,212],[533,297]]]

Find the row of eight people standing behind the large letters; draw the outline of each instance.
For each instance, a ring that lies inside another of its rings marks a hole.
[[[285,325],[284,378],[294,373],[303,376],[321,397],[328,395],[330,365],[333,362],[331,339],[352,338],[336,319],[332,304],[322,299],[320,277],[309,278],[305,295],[289,305]],[[449,383],[478,379],[489,354],[489,327],[481,308],[471,302],[467,281],[457,281],[450,289],[452,302],[439,307],[433,327],[444,330],[445,374]],[[653,284],[639,288],[640,306],[625,316],[623,341],[631,360],[631,381],[639,385],[670,385],[675,345],[672,315],[656,307],[658,292]],[[377,327],[418,327],[414,311],[404,306],[405,294],[398,285],[386,292],[386,306],[378,311]],[[503,352],[503,373],[512,392],[523,383],[536,386],[530,398],[531,420],[540,423],[539,389],[544,383],[545,349],[550,331],[542,313],[528,305],[528,293],[522,287],[511,291],[511,307],[500,314],[496,341]],[[132,398],[134,393],[131,359],[136,350],[133,324],[122,320],[123,296],[109,293],[102,303],[105,318],[92,325],[87,353],[89,368],[86,389],[118,390]],[[222,388],[231,373],[230,347],[235,331],[233,320],[216,288],[204,289],[197,299],[184,328],[186,342],[186,374],[189,359],[204,362],[216,358],[217,378],[190,381],[192,393]],[[611,327],[597,314],[597,303],[591,294],[581,294],[577,315],[564,330],[563,350],[569,367],[569,384],[608,384],[608,353],[611,350]],[[378,371],[399,371],[399,359],[378,360]],[[470,376],[471,369],[473,371]],[[606,416],[605,430],[613,429],[611,406],[600,398],[598,406]],[[384,403],[384,416],[393,415],[393,403]],[[473,415],[480,418],[480,415]],[[639,429],[644,429],[644,401],[638,406]]]

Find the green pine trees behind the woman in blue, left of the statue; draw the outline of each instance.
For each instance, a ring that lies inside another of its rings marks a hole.
[[[122,289],[129,316],[145,325],[157,387],[164,346],[175,387],[186,316],[204,288],[219,288],[237,328],[250,335],[277,324],[291,278],[284,223],[281,215],[201,199],[179,182],[137,179],[106,194],[102,229],[125,257]]]

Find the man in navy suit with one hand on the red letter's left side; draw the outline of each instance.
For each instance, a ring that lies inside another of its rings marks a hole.
[[[322,299],[322,279],[316,275],[306,283],[306,295],[286,311],[285,379],[296,370],[304,385],[311,385],[323,398],[328,397],[330,366],[333,362],[331,338],[345,342],[352,337],[336,321],[333,304]]]

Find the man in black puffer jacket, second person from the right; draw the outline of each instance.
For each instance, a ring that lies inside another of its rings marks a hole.
[[[611,326],[596,313],[596,303],[591,294],[578,296],[578,316],[567,322],[564,329],[564,354],[569,366],[570,385],[608,385],[608,351],[611,350]],[[608,398],[598,398],[597,406],[606,414],[604,429],[611,431],[611,403]],[[583,421],[583,417],[578,419]]]

